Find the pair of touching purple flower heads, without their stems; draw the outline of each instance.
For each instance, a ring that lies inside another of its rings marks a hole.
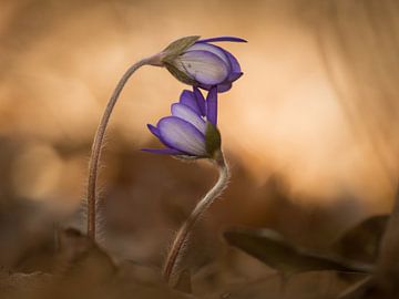
[[[166,148],[143,151],[185,158],[214,158],[221,148],[217,130],[217,94],[226,92],[242,76],[238,61],[226,50],[211,42],[245,42],[233,37],[177,40],[161,53],[161,63],[180,81],[193,86],[184,90],[178,103],[171,106],[171,116],[147,127]],[[208,91],[206,99],[200,89]]]

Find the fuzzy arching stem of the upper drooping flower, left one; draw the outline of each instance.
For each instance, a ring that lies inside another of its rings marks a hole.
[[[99,127],[95,132],[95,137],[92,145],[91,157],[89,161],[89,181],[88,181],[88,236],[95,240],[95,205],[96,205],[96,182],[99,176],[99,164],[102,151],[102,144],[105,136],[106,125],[110,121],[112,111],[116,104],[116,101],[132,74],[143,65],[156,65],[162,66],[160,62],[160,54],[145,58],[127,69],[127,71],[120,79],[114,92],[109,100],[104,114],[101,118]]]

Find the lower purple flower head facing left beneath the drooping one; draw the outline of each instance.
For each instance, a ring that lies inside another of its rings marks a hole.
[[[147,127],[166,148],[143,151],[190,158],[212,158],[221,148],[217,125],[217,90],[209,90],[206,100],[197,87],[182,92],[180,102],[172,104],[172,116]]]

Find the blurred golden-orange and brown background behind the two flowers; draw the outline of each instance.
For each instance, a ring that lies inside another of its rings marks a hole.
[[[0,265],[44,269],[30,258],[51,250],[53,227],[85,228],[90,147],[109,96],[132,63],[184,35],[248,40],[223,44],[245,74],[219,96],[233,178],[206,218],[214,238],[228,226],[269,226],[324,247],[388,213],[398,175],[398,17],[393,0],[1,1]],[[183,89],[145,66],[111,117],[102,241],[121,259],[160,265],[216,179],[206,162],[140,151],[161,146],[146,124],[168,114]]]

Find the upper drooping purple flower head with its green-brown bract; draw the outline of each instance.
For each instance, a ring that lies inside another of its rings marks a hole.
[[[243,75],[237,59],[225,49],[211,42],[246,42],[234,37],[200,40],[187,37],[171,43],[162,58],[166,69],[183,83],[209,91],[225,92]]]

